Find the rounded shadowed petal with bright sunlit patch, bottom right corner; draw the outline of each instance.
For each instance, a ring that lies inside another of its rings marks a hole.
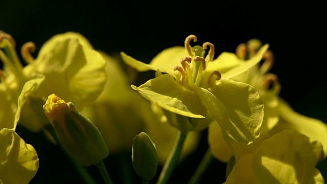
[[[253,155],[252,168],[261,183],[323,183],[316,170],[315,150],[321,144],[295,130],[284,130],[264,141]]]

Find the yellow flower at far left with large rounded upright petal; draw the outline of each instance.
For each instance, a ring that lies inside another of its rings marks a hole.
[[[37,132],[49,122],[40,108],[49,94],[56,93],[82,108],[100,95],[106,75],[104,59],[78,33],[55,35],[44,43],[35,60],[30,53],[34,50],[32,42],[23,45],[21,54],[27,62],[23,67],[14,39],[0,32],[0,60],[4,62],[4,71],[0,71],[0,98],[4,101],[0,120],[13,123],[19,119],[22,126]],[[20,116],[15,118],[16,111]],[[0,128],[13,126],[2,123]]]

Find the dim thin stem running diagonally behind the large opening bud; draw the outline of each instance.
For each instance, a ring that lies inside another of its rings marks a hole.
[[[72,164],[74,165],[76,171],[79,173],[79,175],[83,178],[85,183],[87,184],[96,184],[97,182],[92,178],[92,176],[88,173],[86,168],[82,166],[80,163],[78,163],[75,158],[73,158],[71,155],[67,153],[67,151],[63,148],[63,146],[60,143],[60,140],[57,137],[56,131],[53,128],[53,126],[45,126],[45,129],[48,130],[51,135],[54,137],[57,145],[62,149],[62,151],[67,155],[67,157],[71,160]]]

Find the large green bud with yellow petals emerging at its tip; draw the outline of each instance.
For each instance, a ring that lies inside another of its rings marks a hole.
[[[72,102],[52,94],[43,105],[44,113],[65,148],[83,166],[97,165],[109,154],[98,128]]]

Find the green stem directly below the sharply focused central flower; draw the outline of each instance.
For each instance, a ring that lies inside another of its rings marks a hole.
[[[162,168],[157,184],[165,184],[168,182],[170,175],[172,174],[175,166],[178,163],[179,155],[182,152],[183,144],[186,138],[186,134],[178,131],[175,145],[170,152],[169,157]]]

